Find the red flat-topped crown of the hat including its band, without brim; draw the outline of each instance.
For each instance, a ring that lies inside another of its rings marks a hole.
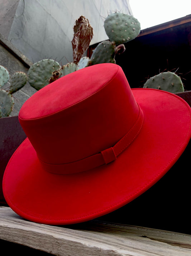
[[[122,69],[113,65],[108,72],[98,65],[96,71],[90,67],[60,78],[20,110],[23,130],[48,172],[69,174],[114,161],[142,127],[143,112]],[[99,72],[105,74],[101,82]],[[84,86],[78,86],[82,81]],[[53,86],[57,98],[64,95],[55,99],[59,104],[48,102]]]

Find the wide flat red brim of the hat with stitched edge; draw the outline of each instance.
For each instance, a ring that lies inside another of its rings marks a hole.
[[[80,223],[124,206],[162,178],[190,140],[190,107],[165,91],[132,91],[143,110],[144,123],[117,160],[77,174],[52,174],[43,170],[27,138],[4,173],[3,192],[8,205],[37,223]]]

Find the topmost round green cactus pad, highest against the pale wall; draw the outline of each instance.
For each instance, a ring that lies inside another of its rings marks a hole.
[[[135,39],[140,33],[139,21],[124,13],[112,13],[104,21],[104,28],[110,41],[124,44]]]

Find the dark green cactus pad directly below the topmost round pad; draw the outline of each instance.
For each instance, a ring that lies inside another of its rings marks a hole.
[[[103,41],[95,48],[91,55],[89,66],[99,63],[115,62],[115,44],[110,41]]]

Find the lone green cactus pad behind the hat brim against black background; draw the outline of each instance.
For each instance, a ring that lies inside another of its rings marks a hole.
[[[181,78],[173,72],[163,72],[149,78],[143,88],[153,88],[170,93],[179,93],[184,91]]]

